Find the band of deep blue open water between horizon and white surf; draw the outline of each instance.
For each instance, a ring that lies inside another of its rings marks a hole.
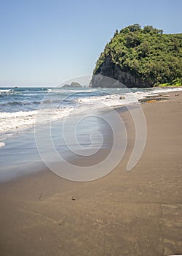
[[[47,93],[52,93],[50,102],[61,102],[60,108],[66,108],[66,106],[76,107],[76,99],[101,97],[108,95],[121,95],[128,93],[125,89],[91,89],[91,88],[42,88],[42,87],[31,87],[31,88],[6,88],[0,87],[0,112],[13,113],[19,111],[32,111],[39,108],[39,104]],[[131,92],[149,92],[154,89],[130,89]],[[47,102],[49,103],[49,102]]]

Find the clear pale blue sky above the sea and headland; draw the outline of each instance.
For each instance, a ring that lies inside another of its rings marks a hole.
[[[0,0],[0,86],[56,86],[91,75],[116,29],[181,33],[182,0]]]

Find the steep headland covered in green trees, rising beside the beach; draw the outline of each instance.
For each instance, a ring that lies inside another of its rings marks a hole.
[[[127,87],[182,86],[182,34],[139,24],[116,30],[100,54],[93,75],[114,78]],[[121,87],[114,83],[113,87]],[[93,76],[90,86],[108,87]],[[109,86],[111,87],[111,86]]]

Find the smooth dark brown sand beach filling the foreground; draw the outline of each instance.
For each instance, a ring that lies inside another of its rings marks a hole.
[[[122,162],[90,182],[49,170],[0,184],[0,255],[182,255],[182,93],[143,103],[147,140],[126,171]],[[72,200],[75,199],[75,200]]]

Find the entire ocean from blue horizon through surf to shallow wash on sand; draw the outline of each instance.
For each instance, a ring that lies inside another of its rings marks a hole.
[[[44,151],[47,151],[47,156],[52,156],[49,145],[46,145],[47,135],[44,134],[44,131],[49,128],[51,120],[52,131],[54,131],[52,132],[52,140],[55,141],[55,145],[58,144],[59,150],[66,154],[68,143],[78,143],[78,141],[69,140],[71,132],[74,131],[71,129],[71,125],[77,126],[75,120],[77,122],[78,117],[84,116],[84,122],[79,120],[81,124],[78,130],[79,144],[83,149],[85,145],[90,145],[90,133],[98,129],[109,130],[109,126],[106,129],[103,120],[98,118],[95,113],[107,112],[111,108],[123,105],[135,105],[138,103],[138,99],[149,94],[166,91],[173,91],[173,89],[151,88],[130,89],[129,91],[129,89],[122,88],[0,87],[0,181],[7,181],[9,178],[20,176],[25,173],[25,170],[31,172],[32,169],[39,169],[33,168],[33,165],[36,166],[37,163],[41,165],[42,162],[42,156],[39,157],[38,154],[40,150],[37,150],[35,143],[35,126],[38,127],[36,128],[36,135],[39,134],[42,141],[44,140]],[[121,96],[122,99],[119,99]],[[46,115],[42,115],[42,113],[46,113]],[[88,113],[92,113],[92,115],[90,114],[90,118],[87,120],[85,116]],[[64,121],[69,122],[66,127],[69,140],[67,144],[65,141],[58,143],[58,133],[60,127],[63,128]],[[111,134],[111,131],[108,133]],[[108,141],[108,133],[105,132],[106,141]],[[92,142],[94,148],[100,147],[97,138],[99,135],[95,134],[94,143]],[[103,145],[107,147],[108,144]],[[77,147],[77,145],[72,146],[74,150]]]

